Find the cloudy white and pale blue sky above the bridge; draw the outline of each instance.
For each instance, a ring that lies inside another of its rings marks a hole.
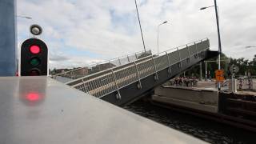
[[[157,52],[210,39],[218,50],[214,0],[137,0],[146,49]],[[50,68],[85,66],[143,50],[134,0],[18,0],[18,47],[37,23],[50,51]],[[222,50],[233,58],[252,59],[256,48],[256,1],[218,0]]]

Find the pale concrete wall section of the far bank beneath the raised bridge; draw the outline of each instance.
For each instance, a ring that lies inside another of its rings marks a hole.
[[[218,90],[175,86],[158,86],[153,101],[195,110],[218,113]]]

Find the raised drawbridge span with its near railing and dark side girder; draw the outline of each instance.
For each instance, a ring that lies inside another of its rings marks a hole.
[[[217,56],[209,48],[208,39],[193,42],[66,84],[115,105],[124,105],[198,62]]]

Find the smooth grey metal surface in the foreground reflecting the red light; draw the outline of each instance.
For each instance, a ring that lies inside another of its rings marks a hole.
[[[1,144],[205,143],[46,77],[0,78]]]

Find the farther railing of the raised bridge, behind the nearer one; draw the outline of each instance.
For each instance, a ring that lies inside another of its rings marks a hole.
[[[134,54],[128,54],[119,58],[114,58],[104,62],[93,63],[88,66],[79,67],[74,70],[64,71],[61,74],[54,74],[51,77],[61,82],[70,82],[77,78],[82,78],[87,75],[95,74],[103,70],[108,70],[116,66],[122,66],[129,62],[134,62],[140,58],[151,55],[151,51],[140,51]]]

